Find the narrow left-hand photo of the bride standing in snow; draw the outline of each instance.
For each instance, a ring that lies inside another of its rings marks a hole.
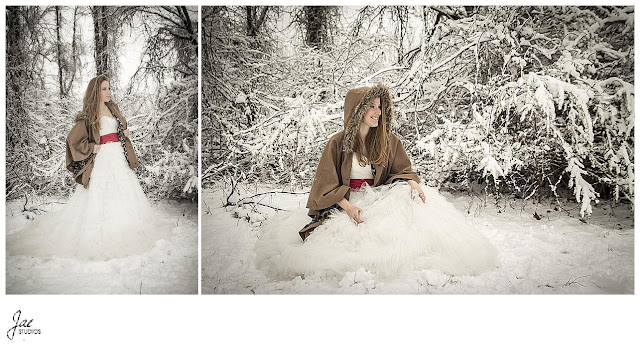
[[[198,7],[6,7],[6,294],[198,293]]]

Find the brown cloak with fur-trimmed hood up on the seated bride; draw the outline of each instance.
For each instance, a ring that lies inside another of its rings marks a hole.
[[[411,170],[411,161],[400,139],[390,131],[394,113],[389,89],[384,85],[376,85],[373,88],[359,87],[349,90],[344,101],[344,130],[329,139],[311,185],[307,208],[312,221],[299,232],[303,240],[324,222],[330,209],[340,208],[337,203],[342,198],[349,199],[353,148],[362,117],[366,114],[370,101],[376,97],[380,97],[389,142],[386,164],[373,166],[373,186],[390,184],[396,180],[420,182],[418,175]]]

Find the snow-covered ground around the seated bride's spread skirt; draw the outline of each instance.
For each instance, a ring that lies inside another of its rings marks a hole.
[[[265,185],[240,188],[231,201],[269,191]],[[307,189],[308,190],[308,189]],[[382,279],[360,268],[343,276],[297,276],[272,280],[256,268],[254,244],[261,223],[274,211],[304,208],[305,194],[271,193],[251,198],[260,204],[223,207],[230,187],[202,193],[203,294],[628,294],[633,293],[633,210],[601,201],[587,223],[579,205],[511,202],[495,206],[467,195],[443,193],[467,213],[499,251],[502,266],[479,276],[412,271]],[[295,191],[294,191],[295,192]],[[303,192],[303,191],[297,191]],[[534,218],[536,212],[541,218]]]

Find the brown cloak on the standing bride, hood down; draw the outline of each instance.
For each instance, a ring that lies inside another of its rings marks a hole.
[[[127,121],[115,103],[109,101],[106,105],[118,121],[118,139],[122,144],[129,167],[135,169],[139,165],[138,159],[133,150],[131,140],[124,136],[123,133],[127,128]],[[75,125],[71,128],[69,136],[67,136],[67,170],[71,171],[74,180],[85,188],[89,185],[91,170],[93,170],[95,159],[93,146],[96,144],[100,144],[100,132],[91,127],[89,116],[82,113],[78,114],[75,119]]]

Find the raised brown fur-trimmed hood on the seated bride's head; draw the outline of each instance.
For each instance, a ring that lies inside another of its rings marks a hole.
[[[342,143],[344,152],[353,152],[362,117],[367,113],[371,100],[376,97],[380,97],[382,109],[382,120],[380,122],[385,123],[387,138],[391,134],[394,112],[393,99],[389,88],[378,84],[374,87],[361,86],[351,89],[344,99],[344,141]]]

